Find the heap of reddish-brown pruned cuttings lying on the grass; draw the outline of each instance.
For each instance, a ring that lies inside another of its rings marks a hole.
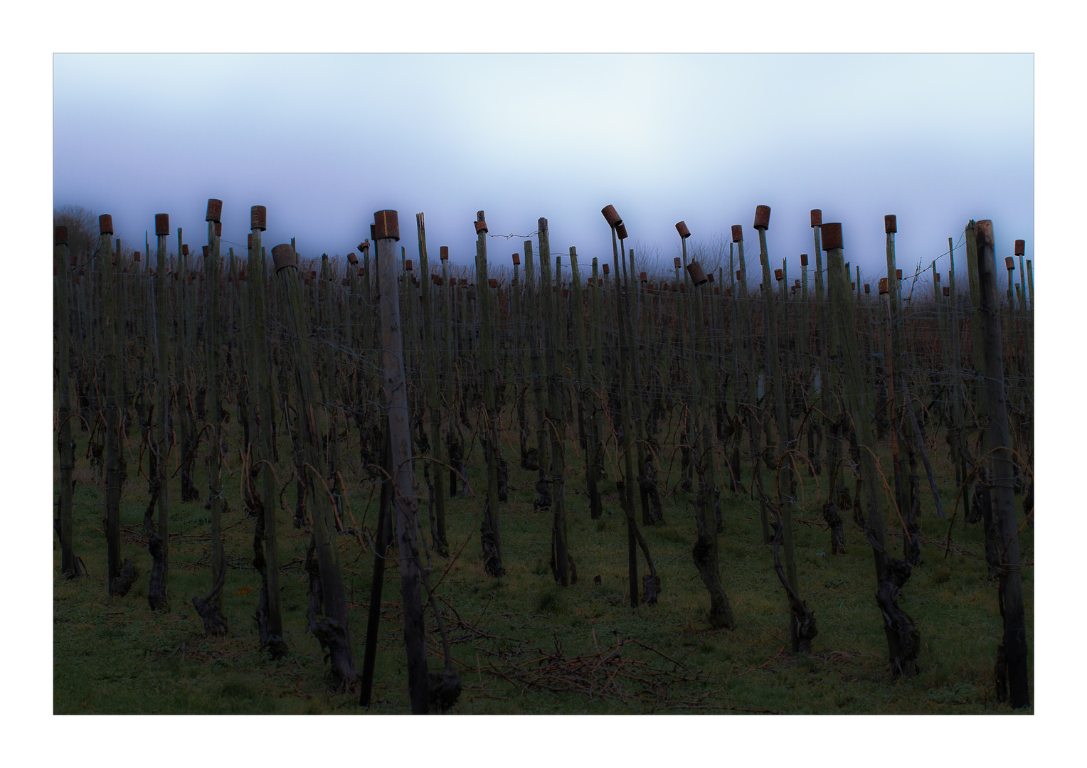
[[[626,646],[649,651],[660,660],[634,658],[623,653]],[[707,683],[710,678],[638,640],[616,639],[614,645],[597,647],[595,653],[580,656],[566,655],[558,634],[553,651],[526,647],[524,643],[514,647],[495,647],[486,640],[480,640],[474,647],[487,657],[486,663],[478,663],[478,671],[507,680],[520,687],[522,693],[536,689],[552,693],[579,693],[589,698],[612,702],[637,701],[655,706],[698,706],[716,693],[708,692],[699,696],[699,701],[689,703],[670,697],[670,691],[674,692],[679,683]]]

